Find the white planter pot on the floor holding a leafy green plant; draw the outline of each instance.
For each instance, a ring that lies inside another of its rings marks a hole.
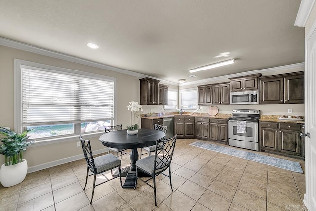
[[[22,159],[21,163],[5,166],[3,164],[0,169],[0,182],[3,187],[11,187],[21,183],[28,172],[28,163]]]

